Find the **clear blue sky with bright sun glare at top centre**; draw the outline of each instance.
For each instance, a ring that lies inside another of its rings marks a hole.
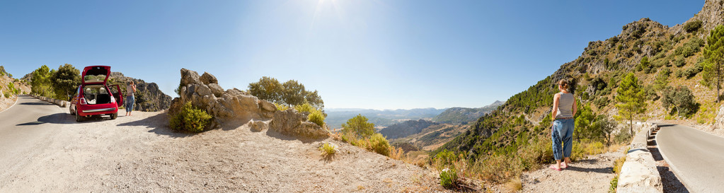
[[[209,3],[212,2],[212,3]],[[480,107],[649,17],[704,1],[0,1],[0,65],[110,65],[156,82],[179,69],[245,90],[262,76],[319,90],[327,108]]]

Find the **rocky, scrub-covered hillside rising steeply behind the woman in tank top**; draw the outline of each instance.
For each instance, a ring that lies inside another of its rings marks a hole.
[[[669,116],[669,111],[661,106],[662,90],[653,87],[655,76],[669,71],[670,76],[665,78],[670,82],[668,85],[688,87],[700,105],[690,119],[700,124],[712,123],[715,107],[720,104],[715,102],[715,91],[700,84],[699,72],[704,37],[715,25],[723,23],[722,4],[723,1],[706,1],[702,11],[688,21],[701,21],[701,27],[668,27],[644,18],[624,25],[619,35],[590,42],[578,59],[513,95],[497,111],[481,116],[471,129],[439,150],[453,150],[479,160],[489,153],[515,154],[518,147],[544,139],[550,133],[552,95],[558,92],[555,82],[564,78],[575,85],[571,93],[582,106],[590,106],[596,114],[613,116],[618,83],[626,73],[634,72],[647,90],[644,119],[686,119]],[[644,56],[650,64],[641,64]]]

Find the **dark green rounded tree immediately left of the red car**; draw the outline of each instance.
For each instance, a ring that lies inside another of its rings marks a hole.
[[[68,100],[75,89],[80,85],[80,70],[73,65],[64,64],[51,75],[51,83],[54,87],[56,97],[60,100]]]

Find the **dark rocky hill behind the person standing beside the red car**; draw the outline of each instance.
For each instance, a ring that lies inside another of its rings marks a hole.
[[[135,83],[136,93],[133,94],[135,111],[162,111],[171,106],[171,97],[161,92],[155,82],[146,82],[132,77],[126,77],[121,72],[111,72],[109,85],[120,85],[125,95],[126,86]]]

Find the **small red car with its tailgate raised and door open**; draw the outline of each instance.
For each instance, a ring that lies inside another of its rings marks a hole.
[[[91,66],[83,68],[80,86],[70,100],[70,114],[75,121],[90,116],[108,115],[118,117],[118,107],[123,106],[123,95],[118,85],[106,85],[111,67]]]

